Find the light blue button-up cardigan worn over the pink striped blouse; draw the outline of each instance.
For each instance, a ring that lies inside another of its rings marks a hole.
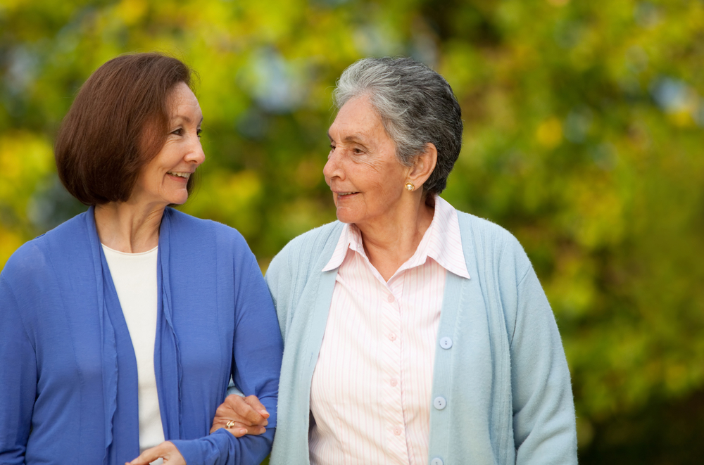
[[[470,279],[447,274],[437,340],[452,344],[436,348],[427,463],[576,464],[570,371],[528,257],[505,229],[458,217]],[[337,276],[320,270],[341,230],[298,236],[265,276],[284,338],[272,465],[309,463],[310,383]]]

